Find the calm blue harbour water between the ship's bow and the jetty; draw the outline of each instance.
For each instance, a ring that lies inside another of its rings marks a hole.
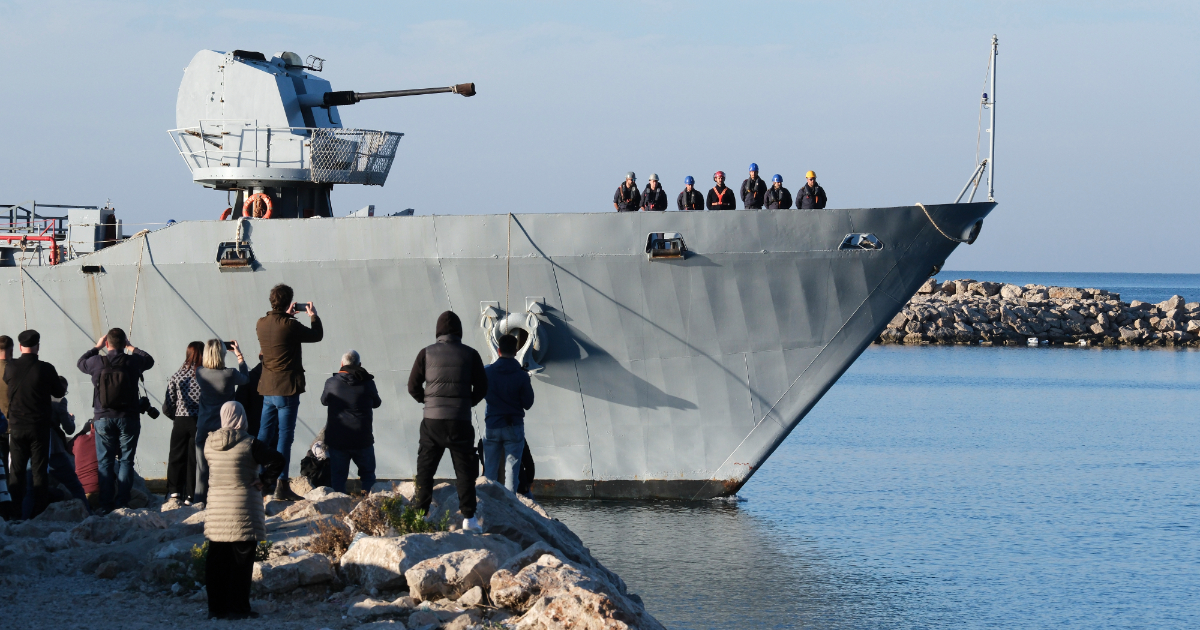
[[[668,628],[1200,628],[1198,409],[1200,352],[876,346],[740,500],[547,508]]]

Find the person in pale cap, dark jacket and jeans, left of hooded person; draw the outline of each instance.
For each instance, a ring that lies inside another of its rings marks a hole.
[[[374,485],[374,434],[371,421],[383,401],[374,377],[362,368],[359,353],[342,355],[342,368],[325,380],[320,403],[329,407],[325,420],[325,452],[329,454],[329,485],[346,492],[350,461],[359,469],[362,490]]]

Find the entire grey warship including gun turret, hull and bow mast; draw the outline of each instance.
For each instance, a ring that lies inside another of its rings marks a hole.
[[[193,340],[239,340],[280,282],[311,301],[292,475],[325,422],[325,374],[358,349],[383,406],[380,479],[415,473],[421,406],[406,389],[442,311],[485,362],[514,334],[536,404],[526,436],[542,497],[707,499],[734,494],[995,208],[995,53],[989,155],[955,203],[822,210],[335,217],[334,185],[378,185],[401,133],[347,128],[364,100],[451,92],[334,91],[323,60],[202,50],[169,136],[192,180],[233,199],[220,220],[126,235],[110,206],[7,206],[0,322],[42,332],[77,415],[91,383],[73,368],[110,328],[156,359],[146,394]],[[973,202],[986,173],[988,200]],[[971,197],[962,200],[967,188]],[[214,212],[217,215],[217,212]],[[304,316],[299,316],[306,323]],[[484,406],[474,410],[484,432]],[[170,422],[143,419],[137,468],[164,476]],[[449,457],[439,478],[451,478]]]

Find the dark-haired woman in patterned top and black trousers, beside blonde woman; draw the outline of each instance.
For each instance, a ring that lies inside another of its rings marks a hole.
[[[204,361],[204,342],[187,344],[184,365],[167,380],[162,412],[170,418],[167,457],[167,500],[191,505],[196,496],[196,418],[200,413],[200,382],[196,370]]]

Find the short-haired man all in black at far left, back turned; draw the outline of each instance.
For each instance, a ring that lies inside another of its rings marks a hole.
[[[14,509],[25,500],[25,467],[34,469],[34,510],[31,517],[49,505],[50,433],[54,413],[50,398],[66,396],[58,370],[37,359],[42,336],[26,330],[17,336],[20,356],[5,366],[8,386],[8,493]]]

